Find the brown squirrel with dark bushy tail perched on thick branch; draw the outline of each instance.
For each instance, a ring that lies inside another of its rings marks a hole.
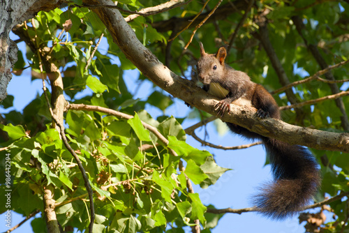
[[[198,79],[203,89],[222,98],[214,107],[218,115],[230,111],[230,103],[255,107],[261,119],[281,119],[279,105],[260,84],[252,82],[242,71],[224,63],[227,51],[220,47],[216,54],[207,54],[200,43]],[[320,186],[318,163],[308,149],[291,145],[274,138],[226,122],[233,133],[247,139],[260,139],[269,155],[274,181],[266,183],[261,193],[253,197],[257,211],[269,218],[282,220],[294,216],[310,202]]]

